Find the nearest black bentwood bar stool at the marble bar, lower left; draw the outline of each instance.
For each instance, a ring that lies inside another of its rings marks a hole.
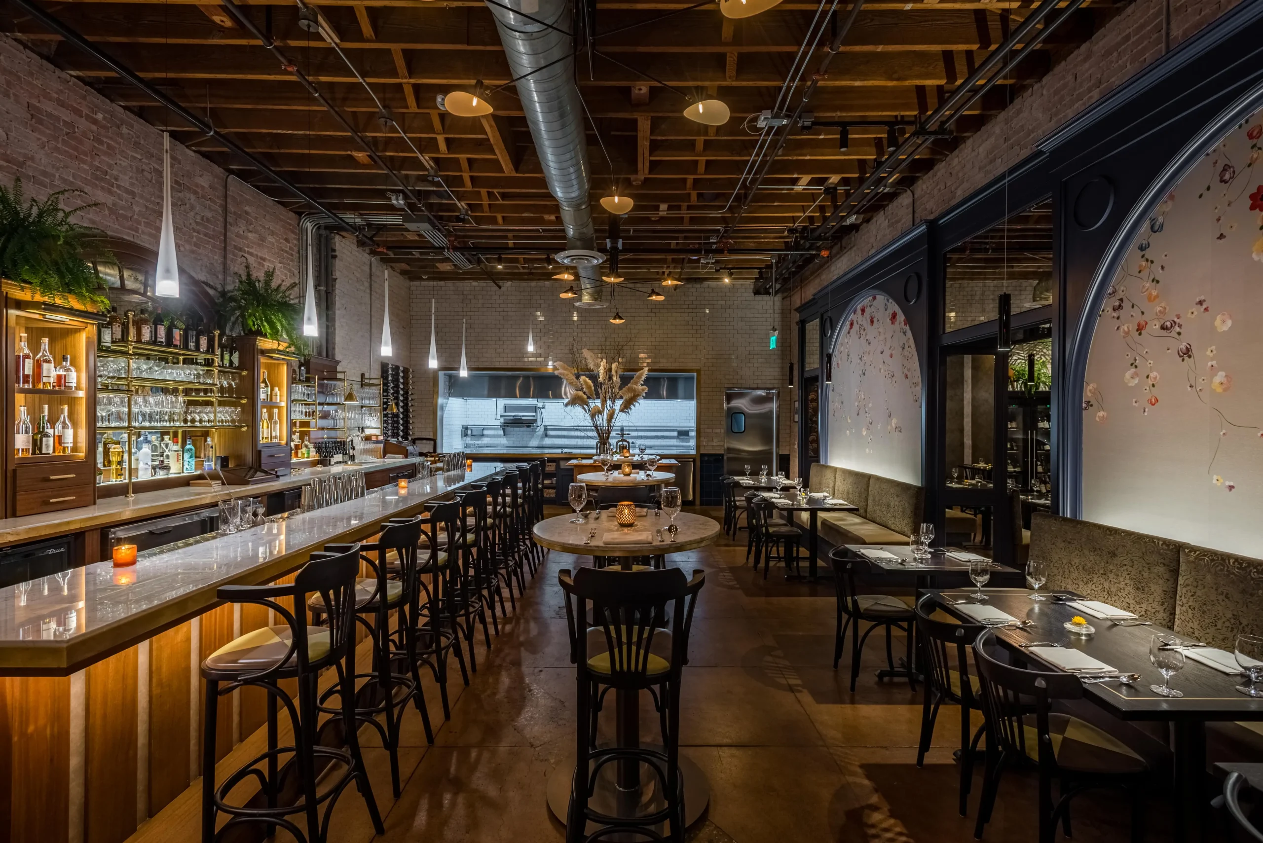
[[[202,663],[207,714],[202,747],[202,843],[213,843],[229,829],[244,824],[263,825],[266,837],[284,829],[301,843],[322,843],[328,838],[333,806],[352,781],[368,804],[373,828],[385,834],[360,755],[354,694],[341,695],[341,712],[320,729],[321,733],[328,729],[327,734],[318,734],[316,728],[321,671],[332,668],[340,684],[354,681],[359,570],[360,551],[354,546],[340,554],[313,553],[294,582],[285,586],[225,586],[216,592],[222,601],[264,606],[285,623],[246,632]],[[325,606],[332,608],[327,627],[307,625],[311,594],[320,594]],[[279,602],[285,598],[293,601],[293,611]],[[297,700],[282,688],[284,680],[297,680]],[[260,688],[268,697],[268,748],[216,787],[215,710],[218,698],[248,687]],[[278,746],[279,705],[284,705],[293,726],[290,746]],[[288,760],[282,763],[285,756]],[[340,775],[331,775],[338,767]],[[246,779],[255,780],[259,793],[244,805],[230,804],[232,789]],[[321,805],[325,806],[323,818],[320,816]],[[229,820],[216,833],[218,814],[227,814]],[[294,814],[306,816],[306,833],[290,819]]]

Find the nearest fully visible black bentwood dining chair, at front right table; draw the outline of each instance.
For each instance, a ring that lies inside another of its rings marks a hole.
[[[1070,837],[1070,800],[1096,787],[1124,790],[1130,795],[1132,840],[1140,843],[1144,839],[1144,791],[1158,786],[1157,765],[1137,746],[1077,717],[1052,710],[1053,700],[1082,698],[1084,685],[1079,676],[1014,668],[1005,664],[998,651],[993,630],[981,632],[974,642],[974,665],[986,721],[986,775],[974,837],[983,839],[1004,769],[1033,763],[1039,771],[1039,843],[1052,843],[1058,820]],[[1060,781],[1056,801],[1052,799],[1053,780]]]

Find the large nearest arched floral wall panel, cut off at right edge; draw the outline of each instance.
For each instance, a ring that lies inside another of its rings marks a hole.
[[[1084,384],[1084,517],[1263,557],[1263,114],[1153,209]]]

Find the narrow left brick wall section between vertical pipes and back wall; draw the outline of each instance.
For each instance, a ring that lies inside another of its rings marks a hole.
[[[379,260],[370,259],[366,252],[355,246],[350,237],[335,237],[333,244],[337,254],[333,260],[336,321],[333,356],[341,361],[341,367],[347,377],[359,377],[360,372],[369,377],[380,377],[385,265]],[[408,328],[408,321],[412,302],[409,297],[408,280],[392,271],[390,339],[394,353],[386,358],[386,362],[402,366],[410,365],[412,332]],[[429,323],[427,322],[427,324]]]

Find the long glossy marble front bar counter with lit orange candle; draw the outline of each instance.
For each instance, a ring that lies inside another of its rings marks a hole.
[[[274,582],[301,567],[313,550],[375,535],[383,521],[413,515],[427,501],[503,467],[475,463],[474,471],[413,480],[403,495],[397,486],[384,486],[361,498],[275,516],[239,533],[147,551],[126,568],[100,562],[5,588],[0,592],[0,675],[81,670],[212,608],[221,586]],[[213,491],[218,495],[197,500],[213,504],[225,497],[225,488]]]

